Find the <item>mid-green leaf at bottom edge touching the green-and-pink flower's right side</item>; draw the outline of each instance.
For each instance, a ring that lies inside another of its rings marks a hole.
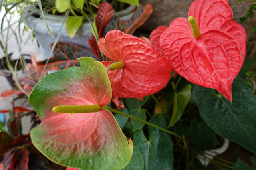
[[[123,170],[143,170],[144,159],[143,154],[137,146],[133,147],[133,155],[131,156],[130,162],[123,168]]]

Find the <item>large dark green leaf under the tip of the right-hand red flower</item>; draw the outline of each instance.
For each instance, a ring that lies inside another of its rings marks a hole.
[[[256,101],[243,79],[232,85],[232,101],[214,89],[193,86],[192,97],[204,121],[220,136],[256,154]]]

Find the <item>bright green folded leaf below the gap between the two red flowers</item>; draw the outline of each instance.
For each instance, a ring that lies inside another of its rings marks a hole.
[[[173,126],[180,119],[190,98],[191,98],[191,85],[186,85],[186,87],[181,92],[174,93],[173,112],[171,115],[171,120],[169,122],[168,128]]]

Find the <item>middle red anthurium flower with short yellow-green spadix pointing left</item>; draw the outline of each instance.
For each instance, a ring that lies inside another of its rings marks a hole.
[[[171,65],[147,42],[120,30],[99,39],[99,48],[112,61],[102,61],[117,97],[143,97],[161,90],[171,77]]]

